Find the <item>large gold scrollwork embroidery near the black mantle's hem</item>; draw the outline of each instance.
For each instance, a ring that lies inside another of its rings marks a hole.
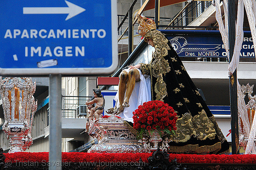
[[[176,143],[186,142],[192,135],[195,135],[199,140],[215,139],[215,126],[204,110],[194,117],[190,113],[185,113],[181,118],[178,118],[177,130],[172,140]]]

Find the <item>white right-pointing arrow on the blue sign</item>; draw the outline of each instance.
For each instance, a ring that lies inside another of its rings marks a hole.
[[[69,7],[24,7],[23,14],[69,14],[65,20],[68,20],[86,9],[65,1]]]

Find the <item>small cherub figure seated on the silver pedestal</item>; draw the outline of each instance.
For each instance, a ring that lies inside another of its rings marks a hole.
[[[88,118],[95,118],[95,122],[99,120],[99,115],[103,112],[105,106],[105,99],[101,94],[101,90],[98,88],[93,89],[94,99],[90,102],[86,102],[86,105],[96,104],[95,107],[90,109],[90,115]]]

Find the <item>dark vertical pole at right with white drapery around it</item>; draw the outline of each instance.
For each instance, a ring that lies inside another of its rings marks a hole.
[[[228,1],[228,41],[229,41],[229,62],[234,53],[234,42],[236,39],[236,20],[234,0]],[[230,90],[230,112],[231,112],[231,147],[232,154],[239,154],[239,133],[238,133],[238,92],[237,92],[237,70],[229,77]]]

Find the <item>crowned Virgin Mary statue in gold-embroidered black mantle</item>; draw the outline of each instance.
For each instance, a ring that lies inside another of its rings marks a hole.
[[[139,69],[142,75],[150,75],[151,100],[167,103],[179,116],[173,141],[168,143],[169,151],[190,154],[229,153],[229,144],[214,115],[168,39],[156,30],[152,19],[140,15],[137,17],[138,33],[155,48],[155,52],[149,64],[140,63],[130,66],[130,69]]]

